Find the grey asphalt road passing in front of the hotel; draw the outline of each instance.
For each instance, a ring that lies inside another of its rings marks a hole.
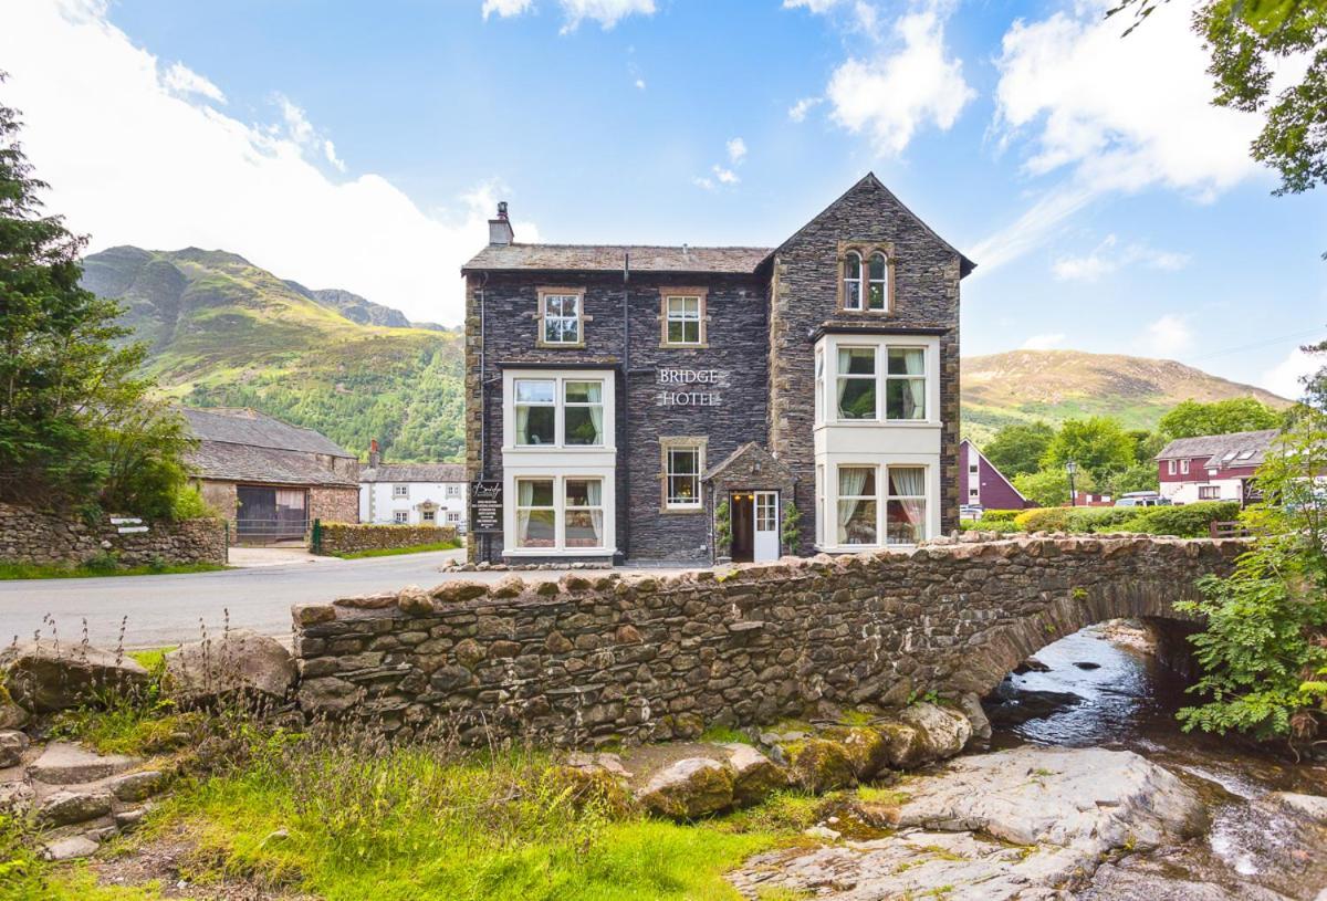
[[[0,581],[0,646],[35,630],[50,636],[53,617],[61,641],[88,640],[114,648],[119,622],[125,646],[161,648],[194,641],[199,622],[219,634],[230,612],[232,629],[248,628],[271,636],[291,633],[291,605],[332,601],[349,594],[394,590],[406,585],[431,588],[449,579],[495,581],[507,573],[442,573],[438,568],[462,551],[410,553],[365,560],[292,563],[253,569],[179,576],[113,576],[109,579],[44,579]],[[557,573],[525,573],[553,576]]]

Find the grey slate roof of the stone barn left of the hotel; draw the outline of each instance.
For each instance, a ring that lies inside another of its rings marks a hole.
[[[180,410],[198,445],[188,466],[200,478],[265,484],[346,486],[357,483],[320,463],[316,454],[356,459],[330,438],[253,410]]]

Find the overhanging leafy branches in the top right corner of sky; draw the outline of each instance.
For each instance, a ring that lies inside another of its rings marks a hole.
[[[1168,0],[1121,0],[1107,16],[1133,12],[1128,35]],[[1327,179],[1327,5],[1320,0],[1206,0],[1193,29],[1212,53],[1213,104],[1255,113],[1266,123],[1250,153],[1281,174],[1277,195],[1302,194]],[[1304,57],[1298,84],[1271,97],[1279,60]]]

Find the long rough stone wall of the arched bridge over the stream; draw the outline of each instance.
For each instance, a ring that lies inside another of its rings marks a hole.
[[[467,738],[691,738],[823,705],[985,694],[1030,654],[1116,617],[1174,617],[1238,540],[942,539],[673,579],[446,583],[297,605],[300,703]],[[488,730],[486,732],[486,730]]]

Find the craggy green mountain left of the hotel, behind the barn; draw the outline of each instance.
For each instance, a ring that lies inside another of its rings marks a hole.
[[[147,374],[192,406],[248,406],[389,459],[464,456],[459,334],[345,291],[309,291],[223,251],[114,247],[84,285],[126,305]]]

